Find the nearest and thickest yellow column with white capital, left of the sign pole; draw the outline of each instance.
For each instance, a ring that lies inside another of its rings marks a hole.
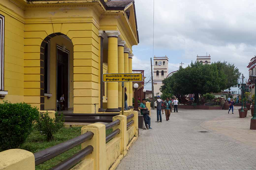
[[[119,31],[105,31],[108,35],[108,73],[118,73],[118,36]],[[106,112],[120,112],[118,109],[118,82],[107,84],[108,103]]]

